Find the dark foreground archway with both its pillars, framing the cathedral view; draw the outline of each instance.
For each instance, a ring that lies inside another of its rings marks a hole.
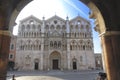
[[[32,0],[0,0],[0,80],[6,79],[10,32],[13,29],[11,26],[15,25],[17,15],[30,1]],[[95,30],[100,34],[107,78],[108,80],[120,80],[119,0],[81,1],[91,8],[90,17],[96,19]],[[75,62],[73,64],[75,65]]]

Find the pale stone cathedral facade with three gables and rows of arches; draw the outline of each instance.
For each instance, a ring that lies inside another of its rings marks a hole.
[[[90,22],[77,16],[20,21],[15,66],[19,70],[87,70],[95,68]]]

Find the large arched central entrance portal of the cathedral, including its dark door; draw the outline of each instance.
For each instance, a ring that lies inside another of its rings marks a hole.
[[[52,70],[59,70],[61,65],[61,56],[60,53],[54,51],[50,54],[50,69]]]

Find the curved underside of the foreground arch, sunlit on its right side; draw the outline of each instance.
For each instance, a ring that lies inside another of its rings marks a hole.
[[[104,23],[104,19],[106,19],[106,15],[103,13],[104,9],[101,7],[93,0],[81,0],[86,6],[88,6],[91,9],[91,13],[90,13],[90,18],[94,18],[95,19],[95,30],[99,32],[99,34],[103,34],[106,32],[106,26]],[[12,11],[12,14],[10,15],[10,20],[9,20],[9,30],[10,32],[13,31],[13,26],[15,26],[15,20],[17,18],[17,16],[19,15],[20,11],[30,2],[32,2],[32,0],[20,0],[17,4],[15,9]],[[104,6],[105,7],[105,6]],[[100,10],[99,10],[99,9]],[[102,12],[102,14],[101,14]],[[104,19],[103,19],[104,18]],[[108,17],[107,17],[108,18]],[[107,23],[107,20],[105,20],[105,22]]]

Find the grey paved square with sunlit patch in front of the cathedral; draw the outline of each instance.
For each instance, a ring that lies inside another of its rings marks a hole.
[[[100,71],[8,71],[7,80],[95,80]]]

